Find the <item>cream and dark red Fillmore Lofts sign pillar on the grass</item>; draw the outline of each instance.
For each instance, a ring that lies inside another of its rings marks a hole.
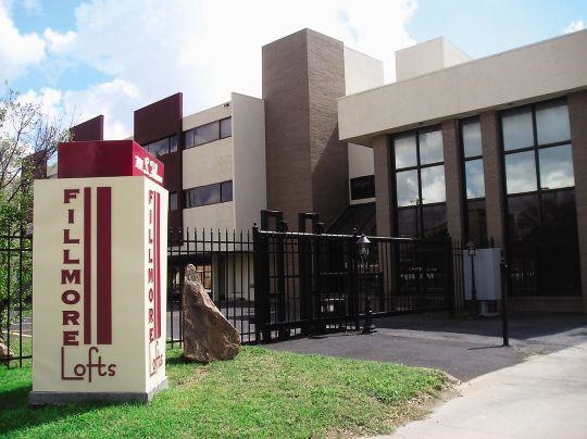
[[[132,140],[62,143],[59,177],[35,181],[29,403],[149,401],[166,387],[163,165]]]

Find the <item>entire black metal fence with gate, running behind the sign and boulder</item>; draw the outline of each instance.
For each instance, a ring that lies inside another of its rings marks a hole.
[[[445,241],[315,233],[172,230],[167,258],[167,342],[182,343],[185,267],[193,264],[216,306],[243,343],[336,329],[358,329],[374,315],[464,306],[462,250]],[[2,335],[13,352],[32,358],[33,239],[0,236]]]

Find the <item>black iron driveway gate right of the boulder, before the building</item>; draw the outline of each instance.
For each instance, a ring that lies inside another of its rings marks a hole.
[[[263,224],[266,226],[266,224]],[[303,227],[302,227],[303,229]],[[374,315],[454,306],[450,240],[367,237],[253,228],[254,322],[258,341],[328,329],[359,329]]]

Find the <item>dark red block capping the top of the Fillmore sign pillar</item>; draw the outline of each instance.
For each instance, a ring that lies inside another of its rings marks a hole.
[[[163,186],[163,163],[134,140],[59,143],[59,178],[146,176]]]

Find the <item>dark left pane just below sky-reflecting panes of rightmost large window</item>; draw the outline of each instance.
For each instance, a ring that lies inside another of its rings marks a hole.
[[[540,227],[538,196],[508,198],[508,228],[512,239],[537,237]]]

